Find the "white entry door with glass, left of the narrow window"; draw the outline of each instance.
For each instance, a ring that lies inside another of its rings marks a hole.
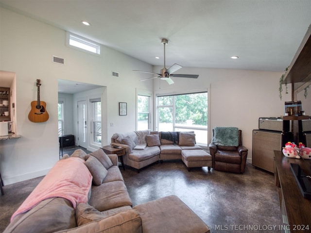
[[[78,143],[87,148],[86,100],[78,101]]]

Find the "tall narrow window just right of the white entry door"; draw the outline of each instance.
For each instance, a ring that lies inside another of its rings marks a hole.
[[[102,101],[99,99],[92,99],[92,126],[93,126],[93,142],[102,143]]]

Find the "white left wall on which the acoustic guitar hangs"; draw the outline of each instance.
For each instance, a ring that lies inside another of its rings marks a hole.
[[[135,90],[152,91],[152,83],[139,82],[143,76],[132,70],[152,71],[151,65],[104,46],[103,56],[73,50],[65,45],[65,31],[4,8],[0,8],[0,36],[0,70],[16,72],[17,133],[21,135],[20,139],[0,141],[4,184],[45,175],[59,159],[58,79],[106,86],[107,122],[115,123],[107,127],[107,135],[135,130],[135,110],[131,110]],[[52,55],[64,58],[65,65],[52,63]],[[112,77],[112,71],[120,77]],[[47,103],[50,115],[43,123],[28,119],[30,103],[36,100],[36,79],[41,79],[40,100]],[[128,102],[127,116],[119,116],[118,102]]]

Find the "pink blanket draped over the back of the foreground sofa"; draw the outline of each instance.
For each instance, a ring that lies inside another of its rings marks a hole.
[[[92,176],[84,163],[85,161],[78,157],[58,161],[12,215],[11,221],[18,214],[49,198],[65,198],[71,201],[73,208],[76,203],[86,203]]]

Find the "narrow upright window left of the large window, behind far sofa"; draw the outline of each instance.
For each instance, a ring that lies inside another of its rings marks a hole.
[[[150,100],[151,96],[148,95],[137,96],[137,130],[150,129]]]

